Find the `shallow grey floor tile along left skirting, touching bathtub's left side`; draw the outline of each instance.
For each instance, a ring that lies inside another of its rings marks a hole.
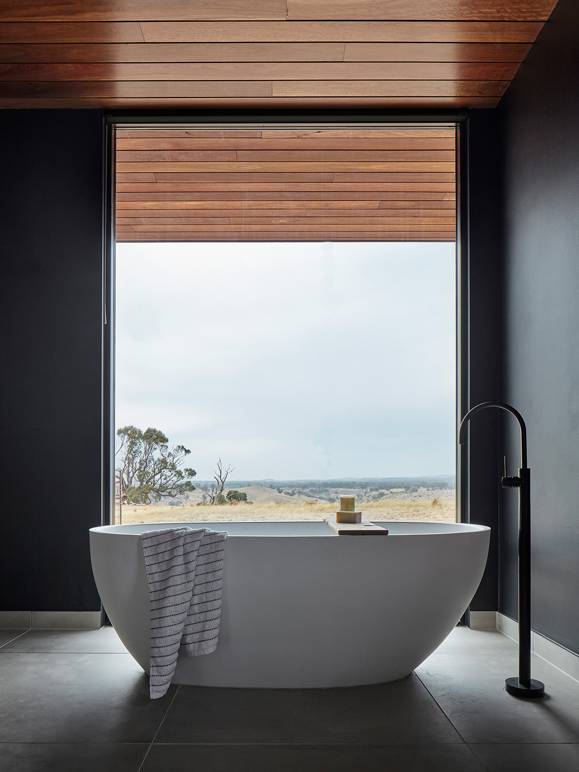
[[[124,654],[127,649],[111,627],[100,630],[29,630],[2,648],[5,652],[31,654]]]

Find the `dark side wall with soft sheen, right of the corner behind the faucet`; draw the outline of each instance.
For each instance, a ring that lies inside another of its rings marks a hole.
[[[532,625],[579,653],[579,3],[559,0],[501,101],[500,391],[529,432]],[[512,424],[504,449],[519,466]],[[500,449],[501,451],[503,449]],[[499,610],[516,618],[516,496],[501,496]]]

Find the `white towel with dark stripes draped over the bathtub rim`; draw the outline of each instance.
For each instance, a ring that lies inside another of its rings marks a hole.
[[[208,528],[141,534],[151,601],[151,699],[167,692],[180,651],[196,657],[217,647],[226,536]]]

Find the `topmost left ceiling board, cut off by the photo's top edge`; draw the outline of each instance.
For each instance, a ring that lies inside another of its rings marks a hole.
[[[5,3],[5,22],[195,21],[286,19],[286,0],[22,0]]]

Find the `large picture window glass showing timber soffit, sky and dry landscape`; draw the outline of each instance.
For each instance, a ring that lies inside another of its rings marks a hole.
[[[117,520],[455,520],[454,169],[448,128],[118,133]]]

